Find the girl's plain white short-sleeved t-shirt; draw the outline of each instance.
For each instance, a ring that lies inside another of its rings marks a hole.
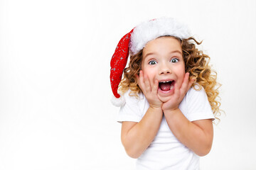
[[[117,121],[120,123],[123,121],[139,123],[148,110],[149,103],[143,94],[139,94],[139,99],[137,99],[134,96],[129,96],[129,92],[124,94],[126,103],[120,108]],[[203,87],[201,91],[189,89],[178,108],[190,121],[214,120],[213,111]],[[137,159],[136,167],[139,170],[194,170],[199,169],[199,157],[177,140],[163,116],[159,132],[146,151]]]

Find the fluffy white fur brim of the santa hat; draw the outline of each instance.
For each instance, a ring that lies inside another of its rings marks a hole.
[[[132,54],[137,54],[142,50],[147,42],[161,36],[170,35],[180,39],[191,37],[188,27],[178,23],[174,18],[157,18],[146,21],[135,27],[131,35],[129,48]]]

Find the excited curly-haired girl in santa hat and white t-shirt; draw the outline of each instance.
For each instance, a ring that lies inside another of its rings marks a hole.
[[[137,169],[199,169],[199,157],[210,152],[218,84],[210,58],[195,43],[201,44],[186,26],[158,18],[117,45],[110,80],[121,106],[122,144]]]

